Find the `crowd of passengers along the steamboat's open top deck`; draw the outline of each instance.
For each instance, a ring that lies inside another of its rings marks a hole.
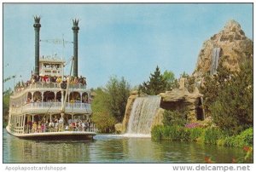
[[[26,83],[21,83],[18,84],[15,87],[16,91],[20,91],[23,89],[26,89],[30,84],[33,83],[67,83],[69,82],[70,84],[82,84],[86,86],[86,77],[80,76],[80,77],[69,77],[69,76],[63,76],[62,77],[52,77],[49,75],[45,75],[45,76],[39,76],[39,75],[33,75],[30,80],[26,81]]]

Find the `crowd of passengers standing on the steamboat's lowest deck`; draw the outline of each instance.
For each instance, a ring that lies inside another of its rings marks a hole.
[[[90,131],[93,124],[89,120],[55,118],[52,121],[41,120],[38,122],[28,121],[26,123],[26,133],[44,133],[60,131]]]

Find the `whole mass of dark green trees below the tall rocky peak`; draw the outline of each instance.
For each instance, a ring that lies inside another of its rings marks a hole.
[[[205,112],[229,135],[253,126],[253,62],[245,61],[239,72],[218,68],[218,76],[206,77]]]

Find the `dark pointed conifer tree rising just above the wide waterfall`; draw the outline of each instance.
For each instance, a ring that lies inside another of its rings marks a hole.
[[[143,82],[139,90],[147,95],[158,95],[166,90],[166,79],[161,75],[159,66],[156,66],[154,73],[150,73],[149,81]]]

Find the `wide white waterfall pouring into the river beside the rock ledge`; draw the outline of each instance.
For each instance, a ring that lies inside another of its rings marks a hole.
[[[160,96],[138,97],[131,108],[128,135],[150,135],[155,113],[160,107]]]

